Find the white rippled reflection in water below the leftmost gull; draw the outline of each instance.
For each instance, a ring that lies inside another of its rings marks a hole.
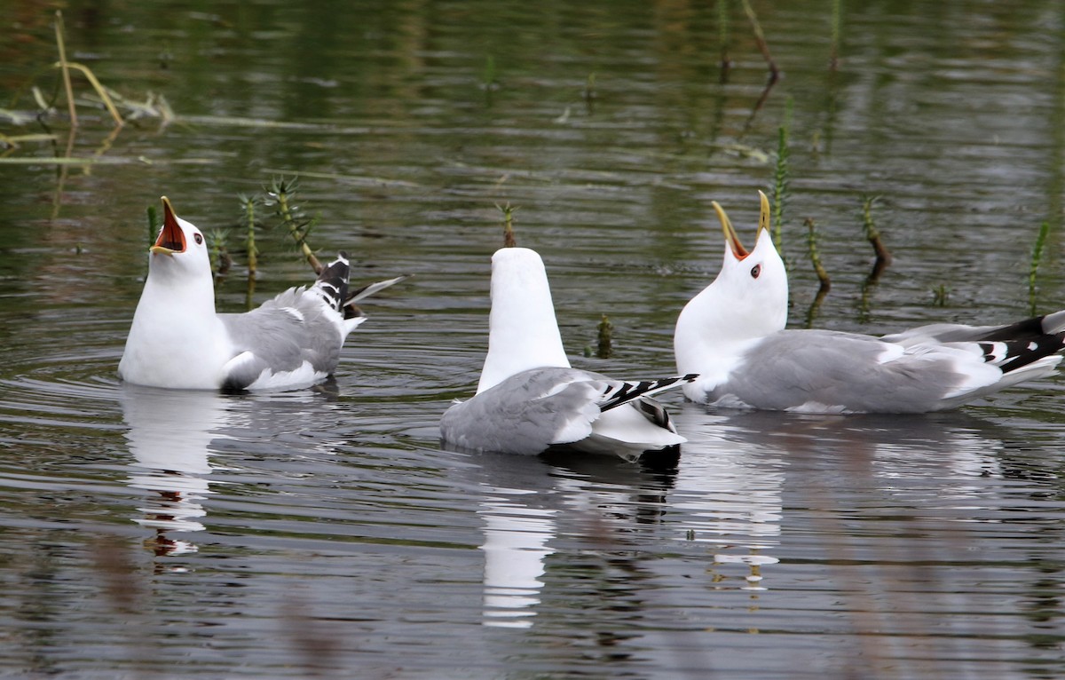
[[[208,476],[214,469],[208,448],[224,423],[226,399],[213,392],[159,390],[124,385],[126,440],[135,463],[128,484],[153,493],[145,497],[134,521],[153,529],[146,541],[157,555],[195,552],[190,540],[171,533],[203,531],[203,499],[212,493]]]

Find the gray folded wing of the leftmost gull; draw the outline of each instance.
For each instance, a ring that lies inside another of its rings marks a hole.
[[[235,349],[224,390],[243,390],[261,378],[304,371],[325,377],[340,361],[340,313],[318,294],[290,289],[242,314],[218,314]]]

